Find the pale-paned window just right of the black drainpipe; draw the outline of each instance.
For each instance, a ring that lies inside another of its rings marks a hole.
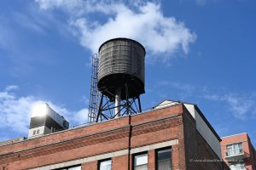
[[[134,156],[133,165],[134,170],[148,170],[148,153]]]

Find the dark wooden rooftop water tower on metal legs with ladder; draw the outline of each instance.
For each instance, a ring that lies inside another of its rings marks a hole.
[[[142,111],[140,95],[145,93],[145,54],[142,44],[128,38],[114,38],[102,43],[98,58],[93,59],[96,77],[92,81],[100,95],[93,107],[96,113],[89,111],[90,122]],[[96,95],[92,88],[90,91],[91,95]],[[90,96],[90,107],[93,96]]]

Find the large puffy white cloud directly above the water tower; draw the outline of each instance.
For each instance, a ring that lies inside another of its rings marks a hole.
[[[109,0],[36,0],[41,9],[61,9],[69,14],[69,24],[80,43],[96,53],[102,42],[114,37],[128,37],[142,42],[149,53],[169,54],[180,49],[189,52],[189,44],[195,42],[195,33],[183,22],[166,17],[159,3],[137,1],[123,3]],[[102,14],[92,18],[91,14]]]

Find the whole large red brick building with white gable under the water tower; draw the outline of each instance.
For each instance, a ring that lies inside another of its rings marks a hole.
[[[220,138],[196,105],[150,111],[0,144],[0,169],[218,170]]]

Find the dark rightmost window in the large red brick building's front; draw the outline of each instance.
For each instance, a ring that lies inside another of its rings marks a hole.
[[[172,170],[171,148],[156,151],[157,170]]]

